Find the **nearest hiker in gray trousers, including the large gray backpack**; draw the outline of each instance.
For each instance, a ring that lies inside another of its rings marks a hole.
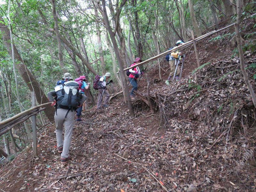
[[[63,78],[65,82],[61,86],[55,86],[54,91],[47,93],[48,99],[55,106],[54,120],[56,123],[57,149],[61,153],[61,164],[65,164],[71,158],[69,148],[73,126],[75,123],[75,111],[82,106],[87,97],[78,91],[78,83],[70,81],[73,78],[69,73],[65,73]],[[63,141],[63,125],[65,128]]]

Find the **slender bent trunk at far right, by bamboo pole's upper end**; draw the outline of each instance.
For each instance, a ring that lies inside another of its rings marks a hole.
[[[242,43],[241,43],[241,35],[240,35],[240,31],[239,31],[239,25],[240,25],[240,21],[241,21],[241,0],[236,0],[236,24],[235,24],[235,30],[236,30],[236,42],[237,42],[237,48],[238,48],[238,52],[239,52],[239,59],[240,59],[240,67],[241,67],[241,71],[243,73],[244,76],[244,82],[247,85],[251,96],[252,96],[252,102],[254,107],[256,108],[256,96],[255,93],[253,91],[252,85],[250,83],[248,74],[245,70],[245,66],[244,66],[244,53],[243,53],[243,49],[242,49]]]

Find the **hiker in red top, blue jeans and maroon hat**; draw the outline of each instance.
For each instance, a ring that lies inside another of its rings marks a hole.
[[[142,60],[140,60],[140,58],[137,57],[137,58],[134,60],[133,64],[132,64],[130,67],[132,67],[133,65],[136,65],[136,64],[140,63],[141,61],[142,61]],[[129,81],[130,81],[130,84],[132,85],[132,90],[131,90],[131,92],[130,92],[130,97],[133,98],[133,97],[134,97],[133,91],[134,91],[134,90],[137,91],[137,89],[138,89],[137,78],[139,77],[140,74],[143,75],[144,72],[143,72],[143,71],[140,72],[139,66],[137,66],[137,67],[135,67],[135,68],[129,69],[129,72],[131,72],[131,74],[129,75]],[[137,77],[136,77],[136,76],[137,76]]]

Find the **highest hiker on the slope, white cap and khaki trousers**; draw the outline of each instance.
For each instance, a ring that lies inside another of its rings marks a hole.
[[[176,43],[176,47],[180,46],[184,44],[183,41],[179,40],[177,41]],[[174,49],[175,47],[173,47]],[[178,59],[180,58],[180,56],[182,55],[182,52],[179,52],[179,50],[176,50],[174,52],[171,52],[170,54],[170,59],[169,59],[169,65],[170,65],[170,74],[169,74],[169,77],[168,79],[165,81],[165,84],[169,85],[170,84],[170,79],[172,78],[172,76],[174,75],[175,73],[175,69],[176,69],[176,64],[178,62]],[[180,68],[179,66],[177,67],[177,71],[176,71],[176,74],[175,74],[175,79],[178,80],[179,79],[179,74],[180,74]]]

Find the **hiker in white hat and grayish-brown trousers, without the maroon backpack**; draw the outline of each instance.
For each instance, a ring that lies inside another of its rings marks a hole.
[[[106,86],[108,84],[112,83],[113,80],[111,79],[109,82],[106,82],[106,80],[108,80],[110,76],[111,76],[110,73],[107,72],[104,76],[100,77],[100,80],[99,80],[99,83],[98,83],[99,95],[98,95],[98,103],[97,103],[97,108],[96,109],[99,109],[101,107],[103,95],[105,95],[105,100],[104,100],[102,106],[103,107],[108,107],[108,100],[110,98],[110,94],[107,91]]]

